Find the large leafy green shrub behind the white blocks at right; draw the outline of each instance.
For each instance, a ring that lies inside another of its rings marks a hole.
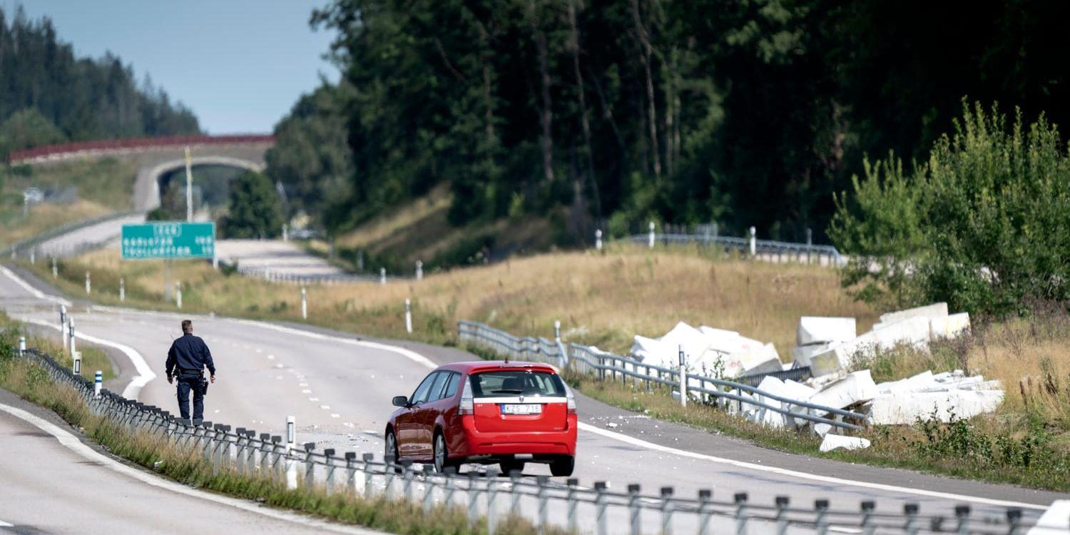
[[[947,301],[998,317],[1070,300],[1068,156],[1043,116],[1026,125],[1018,110],[1009,122],[964,104],[912,173],[889,155],[836,197],[844,286],[880,306]]]

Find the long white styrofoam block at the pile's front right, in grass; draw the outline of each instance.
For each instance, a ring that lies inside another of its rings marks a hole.
[[[1003,402],[1003,391],[901,392],[883,394],[873,400],[870,416],[877,425],[911,425],[936,417],[949,422],[995,411]]]

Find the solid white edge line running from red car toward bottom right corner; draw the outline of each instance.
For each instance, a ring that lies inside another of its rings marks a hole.
[[[885,491],[889,491],[889,492],[900,492],[900,493],[905,493],[905,494],[916,494],[916,495],[928,496],[928,498],[939,498],[939,499],[944,499],[944,500],[954,500],[954,501],[960,501],[960,502],[972,502],[972,503],[978,503],[978,504],[984,504],[984,505],[995,505],[995,506],[999,506],[999,507],[1022,507],[1024,509],[1028,508],[1028,509],[1040,509],[1040,510],[1043,510],[1043,509],[1048,508],[1048,506],[1045,506],[1045,505],[1036,505],[1036,504],[1031,504],[1031,503],[1022,503],[1022,502],[1009,502],[1009,501],[1005,501],[1005,500],[992,500],[992,499],[989,499],[989,498],[970,496],[970,495],[965,495],[965,494],[953,494],[953,493],[950,493],[950,492],[937,492],[937,491],[933,491],[933,490],[911,489],[911,488],[906,488],[906,487],[897,487],[895,485],[885,485],[885,484],[880,484],[880,483],[856,482],[854,479],[841,479],[839,477],[831,477],[831,476],[827,476],[827,475],[810,474],[810,473],[807,473],[807,472],[796,472],[794,470],[788,470],[788,469],[782,469],[782,468],[777,468],[777,467],[767,467],[767,465],[764,465],[764,464],[754,464],[752,462],[745,462],[745,461],[737,461],[737,460],[733,460],[733,459],[725,459],[723,457],[714,457],[712,455],[697,454],[694,452],[687,452],[687,450],[684,450],[684,449],[677,449],[675,447],[662,446],[660,444],[655,444],[653,442],[646,442],[645,440],[636,439],[633,437],[628,437],[627,434],[621,434],[618,432],[607,431],[606,429],[602,429],[600,427],[596,427],[596,426],[593,426],[591,424],[586,424],[586,423],[583,423],[583,422],[580,422],[579,428],[580,428],[580,430],[592,432],[592,433],[595,433],[595,434],[600,434],[600,435],[606,437],[608,439],[613,439],[613,440],[617,440],[617,441],[621,441],[621,442],[625,442],[625,443],[631,444],[633,446],[644,447],[644,448],[647,448],[647,449],[654,449],[654,450],[657,450],[657,452],[663,452],[663,453],[672,454],[672,455],[678,455],[681,457],[689,457],[689,458],[692,458],[692,459],[700,459],[700,460],[704,460],[704,461],[717,462],[717,463],[720,463],[720,464],[729,464],[729,465],[732,465],[732,467],[738,467],[738,468],[747,469],[747,470],[755,470],[755,471],[759,471],[759,472],[769,472],[769,473],[773,473],[773,474],[780,474],[780,475],[786,475],[786,476],[791,476],[791,477],[797,477],[799,479],[810,479],[812,482],[830,483],[830,484],[835,484],[835,485],[845,485],[845,486],[852,486],[852,487],[861,487],[861,488],[874,489],[874,490],[885,490]]]

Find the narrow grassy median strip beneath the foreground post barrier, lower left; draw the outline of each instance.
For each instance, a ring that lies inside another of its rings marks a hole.
[[[92,414],[72,387],[52,382],[44,369],[15,356],[12,345],[18,339],[17,324],[0,315],[0,388],[56,411],[110,453],[164,477],[205,490],[257,500],[273,507],[391,533],[476,535],[487,531],[486,519],[479,519],[477,525],[470,528],[461,507],[439,505],[425,514],[421,504],[403,500],[364,499],[351,491],[327,495],[322,486],[309,488],[302,485],[288,490],[274,478],[240,475],[233,470],[213,474],[211,463],[196,448],[179,447],[158,435],[131,431],[126,426]],[[51,351],[51,354],[60,353]],[[499,524],[496,533],[533,535],[536,530],[524,519],[508,517]],[[548,533],[561,535],[565,532],[551,528]]]

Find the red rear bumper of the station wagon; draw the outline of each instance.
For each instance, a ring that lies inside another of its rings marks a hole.
[[[576,455],[576,416],[568,417],[568,425],[560,431],[479,431],[472,418],[464,418],[464,437],[452,458],[513,459],[517,455],[540,456]]]

